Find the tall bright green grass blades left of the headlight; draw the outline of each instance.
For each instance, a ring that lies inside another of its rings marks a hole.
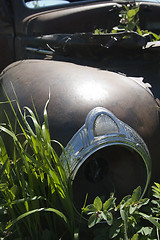
[[[10,159],[0,137],[0,237],[74,239],[71,181],[52,147],[47,117],[49,99],[42,126],[34,104],[34,111],[28,107],[22,111],[16,94],[15,99],[20,117],[9,98],[8,102],[20,133],[15,133],[17,127],[11,125],[9,118],[8,127],[0,125],[0,131],[9,135],[14,144]]]

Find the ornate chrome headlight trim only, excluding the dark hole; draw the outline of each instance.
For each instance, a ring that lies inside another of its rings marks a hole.
[[[142,158],[147,176],[142,193],[144,195],[151,177],[151,159],[148,148],[133,128],[103,107],[96,107],[89,112],[85,124],[65,147],[65,155],[61,155],[61,160],[67,169],[67,158],[70,169],[68,169],[68,175],[74,180],[78,169],[89,156],[102,148],[113,145],[127,147],[137,152]]]

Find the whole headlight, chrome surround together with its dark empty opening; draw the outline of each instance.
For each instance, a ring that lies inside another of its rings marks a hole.
[[[138,133],[109,110],[96,107],[72,137],[61,159],[73,181],[76,207],[95,196],[118,200],[142,187],[144,195],[151,176],[148,148]],[[78,189],[78,191],[77,191]]]

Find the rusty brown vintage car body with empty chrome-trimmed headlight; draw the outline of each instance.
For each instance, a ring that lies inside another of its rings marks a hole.
[[[51,136],[70,153],[77,206],[87,192],[120,199],[141,185],[144,194],[160,177],[160,42],[148,37],[160,34],[160,4],[134,1],[146,37],[112,31],[132,2],[50,2],[0,1],[1,84],[14,99],[12,83],[21,107],[32,97],[40,117],[50,91]]]

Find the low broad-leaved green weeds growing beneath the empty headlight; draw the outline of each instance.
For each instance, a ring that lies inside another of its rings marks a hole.
[[[84,207],[82,212],[90,215],[88,227],[93,228],[94,240],[159,239],[160,184],[155,183],[152,189],[153,200],[141,199],[139,186],[117,206],[111,196],[105,203],[96,197],[93,204]]]

